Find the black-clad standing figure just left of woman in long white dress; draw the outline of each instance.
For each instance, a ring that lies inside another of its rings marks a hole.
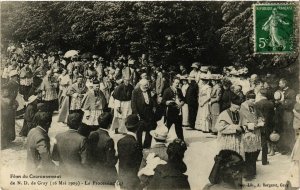
[[[190,85],[186,90],[185,102],[188,105],[188,110],[189,110],[190,128],[195,129],[195,121],[196,121],[197,111],[198,111],[199,87],[195,81],[194,76],[189,77],[189,83]]]

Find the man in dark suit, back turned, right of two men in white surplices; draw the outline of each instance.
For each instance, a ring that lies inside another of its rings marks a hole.
[[[267,165],[268,162],[268,141],[269,136],[273,132],[273,116],[274,116],[274,104],[267,99],[267,89],[261,89],[259,91],[260,99],[255,103],[255,107],[262,113],[265,119],[265,125],[261,129],[261,146],[262,146],[262,165]]]

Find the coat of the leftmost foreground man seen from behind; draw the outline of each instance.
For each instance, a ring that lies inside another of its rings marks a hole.
[[[27,171],[47,172],[54,166],[50,158],[50,138],[40,127],[29,131],[27,137]],[[43,168],[40,171],[38,168]]]

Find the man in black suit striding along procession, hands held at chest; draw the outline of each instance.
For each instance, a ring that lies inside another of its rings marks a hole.
[[[168,129],[175,124],[175,131],[178,138],[184,140],[182,130],[182,113],[181,108],[184,105],[184,97],[179,89],[180,80],[174,78],[172,86],[164,91],[162,103],[167,106],[166,120]]]

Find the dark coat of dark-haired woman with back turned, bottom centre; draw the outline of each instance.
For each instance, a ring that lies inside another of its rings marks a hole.
[[[191,189],[188,177],[176,165],[158,165],[147,189]]]

